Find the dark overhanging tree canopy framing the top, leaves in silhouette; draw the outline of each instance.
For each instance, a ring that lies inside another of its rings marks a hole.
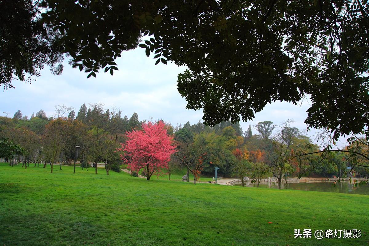
[[[143,37],[139,46],[156,64],[188,67],[178,76],[178,90],[187,108],[203,110],[206,124],[246,121],[272,101],[297,104],[309,97],[308,127],[329,129],[336,139],[364,131],[369,136],[367,1],[15,2],[12,9],[29,13],[20,18],[19,11],[3,11],[18,16],[3,18],[1,44],[15,45],[1,52],[5,87],[11,85],[9,68],[19,78],[35,74],[41,63],[58,61],[59,49],[87,77],[99,69],[113,75],[114,60]],[[9,34],[14,28],[6,28],[13,22],[27,22],[20,44]],[[30,57],[34,62],[24,65]]]

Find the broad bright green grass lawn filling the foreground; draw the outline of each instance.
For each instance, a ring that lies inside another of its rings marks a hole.
[[[0,164],[0,245],[368,245],[369,196]],[[272,222],[272,224],[268,223]],[[361,229],[359,239],[294,229]]]

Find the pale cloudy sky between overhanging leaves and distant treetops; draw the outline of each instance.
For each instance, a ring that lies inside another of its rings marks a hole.
[[[119,71],[114,71],[114,76],[100,70],[97,78],[86,79],[87,73],[72,68],[66,58],[63,73],[59,76],[52,75],[49,68],[45,67],[41,76],[31,84],[14,81],[15,89],[0,92],[0,115],[6,116],[8,113],[8,117],[13,117],[17,110],[21,110],[23,116],[30,118],[33,112],[36,114],[42,109],[50,117],[55,114],[55,105],[73,107],[77,115],[83,103],[87,107],[90,103],[104,103],[105,109],[121,110],[122,117],[127,115],[130,118],[137,112],[140,120],[163,119],[174,127],[187,121],[191,125],[196,124],[202,118],[202,111],[186,109],[186,100],[177,91],[177,76],[186,67],[178,67],[174,63],[155,65],[152,56],[146,57],[142,48],[123,52],[116,62]],[[253,127],[261,121],[268,120],[279,125],[292,119],[292,127],[299,128],[314,139],[317,131],[313,129],[306,132],[307,126],[304,124],[309,107],[308,100],[300,105],[275,102],[256,113],[253,121],[240,124],[246,131],[249,125]],[[253,134],[256,134],[254,129]],[[344,144],[342,138],[338,146]]]

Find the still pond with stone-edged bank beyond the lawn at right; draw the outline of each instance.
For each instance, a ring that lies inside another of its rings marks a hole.
[[[242,184],[235,184],[235,186],[242,186]],[[285,189],[286,184],[282,184],[282,189]],[[247,187],[256,187],[256,184],[247,184]],[[275,184],[259,184],[259,187],[263,188],[277,188]],[[350,183],[290,183],[287,184],[287,189],[292,190],[306,190],[306,191],[328,191],[328,192],[339,192],[349,194],[361,194],[369,195],[369,185],[357,186]]]

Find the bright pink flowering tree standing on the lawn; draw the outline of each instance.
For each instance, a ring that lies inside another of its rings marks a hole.
[[[162,168],[168,168],[170,156],[176,152],[173,138],[166,132],[162,121],[142,124],[142,130],[126,132],[127,141],[120,143],[117,149],[122,160],[132,171],[146,169],[147,180],[153,173],[160,173]]]

